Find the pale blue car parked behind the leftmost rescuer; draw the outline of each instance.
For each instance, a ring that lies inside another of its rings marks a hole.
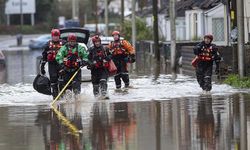
[[[41,50],[44,48],[45,44],[51,39],[50,34],[44,34],[37,37],[34,40],[30,40],[29,48],[30,50]]]

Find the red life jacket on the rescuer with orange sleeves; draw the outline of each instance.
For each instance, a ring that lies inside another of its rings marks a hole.
[[[123,40],[120,42],[111,42],[110,50],[112,55],[119,56],[119,55],[128,55],[126,49],[124,48]]]

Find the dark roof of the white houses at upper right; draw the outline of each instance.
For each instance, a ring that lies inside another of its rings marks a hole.
[[[225,4],[225,0],[181,0],[176,2],[176,15],[177,17],[184,17],[186,10],[192,10],[194,8],[199,8],[202,10],[209,10],[220,3]],[[159,14],[168,15],[169,5],[158,10]],[[143,10],[136,12],[137,16],[145,17],[152,15],[152,7],[145,8]]]

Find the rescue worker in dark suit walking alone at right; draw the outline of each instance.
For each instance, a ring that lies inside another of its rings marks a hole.
[[[220,54],[215,44],[212,44],[213,35],[207,34],[204,40],[193,49],[195,59],[192,65],[196,68],[196,77],[204,93],[212,89],[213,62],[216,64],[215,72],[219,72]]]

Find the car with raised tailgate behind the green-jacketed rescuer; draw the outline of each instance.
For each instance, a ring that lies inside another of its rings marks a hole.
[[[61,32],[61,39],[67,40],[67,37],[70,33],[75,33],[77,36],[77,42],[88,49],[86,46],[89,39],[89,30],[83,28],[63,28],[60,29]],[[91,71],[87,69],[87,67],[81,68],[82,70],[82,81],[91,81]]]

